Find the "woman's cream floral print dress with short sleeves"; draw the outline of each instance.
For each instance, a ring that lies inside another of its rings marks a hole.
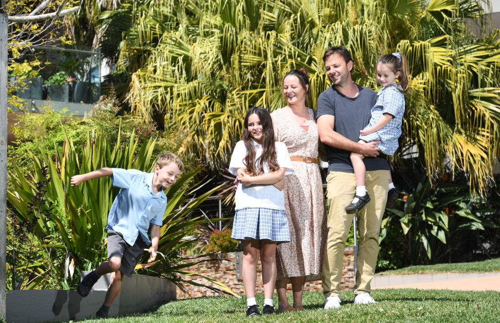
[[[291,156],[317,158],[318,130],[309,111],[307,131],[292,122],[283,108],[271,113],[274,139],[286,144]],[[306,276],[320,278],[327,234],[323,186],[317,163],[292,161],[293,174],[284,176],[284,206],[290,242],[276,249],[277,279]]]

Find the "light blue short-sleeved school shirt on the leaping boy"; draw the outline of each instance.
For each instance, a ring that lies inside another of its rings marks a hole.
[[[140,233],[146,244],[149,223],[161,226],[166,208],[163,190],[153,194],[153,173],[137,169],[111,168],[113,186],[121,187],[107,216],[106,229],[120,232],[130,245]]]

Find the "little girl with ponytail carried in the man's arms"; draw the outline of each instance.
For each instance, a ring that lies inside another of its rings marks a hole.
[[[399,82],[396,82],[396,78]],[[375,105],[371,108],[368,125],[359,131],[360,143],[379,140],[376,146],[381,152],[391,155],[397,149],[397,138],[401,135],[401,122],[404,113],[404,95],[408,91],[408,64],[406,56],[401,52],[385,54],[378,58],[376,79],[383,87],[377,93]],[[350,154],[352,167],[356,176],[356,193],[352,202],[345,209],[356,210],[370,200],[365,188],[366,168],[363,156]],[[389,173],[389,199],[395,198],[397,192]]]

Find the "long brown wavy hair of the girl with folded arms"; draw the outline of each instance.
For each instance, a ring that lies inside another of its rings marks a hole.
[[[248,117],[251,114],[256,114],[262,125],[262,154],[255,159],[255,146],[253,145],[253,137],[248,131]],[[276,157],[276,148],[274,146],[274,129],[272,128],[272,119],[269,112],[262,106],[252,106],[246,112],[243,121],[243,136],[241,138],[246,148],[246,156],[243,158],[243,163],[246,167],[246,172],[250,176],[256,176],[264,173],[264,164],[267,163],[269,171],[279,169],[279,164]]]

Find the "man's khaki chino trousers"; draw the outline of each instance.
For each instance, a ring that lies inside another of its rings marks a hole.
[[[328,237],[323,258],[323,293],[340,296],[342,264],[345,241],[349,234],[355,211],[347,212],[347,206],[356,191],[354,173],[330,171],[326,177],[326,199],[328,202]],[[359,234],[357,272],[354,294],[370,292],[370,281],[375,272],[378,256],[378,234],[387,200],[388,170],[366,172],[366,190],[371,200],[358,210]]]

